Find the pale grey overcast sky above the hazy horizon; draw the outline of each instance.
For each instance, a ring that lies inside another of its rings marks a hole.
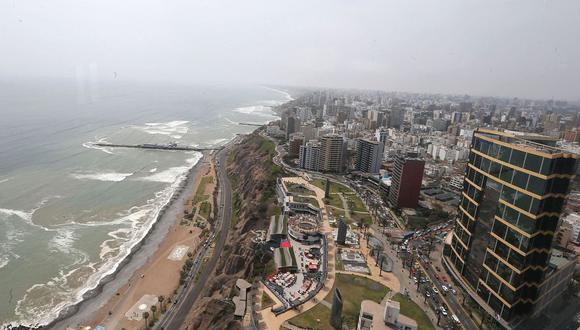
[[[580,1],[0,0],[0,78],[580,99]]]

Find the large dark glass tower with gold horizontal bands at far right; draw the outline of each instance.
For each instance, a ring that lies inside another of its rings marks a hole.
[[[472,138],[444,262],[507,329],[541,312],[571,277],[552,242],[577,155],[554,145],[537,134],[482,128]]]

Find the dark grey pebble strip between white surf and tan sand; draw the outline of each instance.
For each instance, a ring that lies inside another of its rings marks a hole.
[[[169,202],[162,207],[147,234],[131,248],[131,252],[117,265],[116,269],[104,276],[94,289],[85,292],[81,301],[63,309],[58,317],[42,328],[75,327],[81,322],[90,320],[96,311],[111,300],[135,272],[147,263],[165,240],[170,228],[176,223],[177,216],[183,214],[184,201],[193,189],[199,169],[210,157],[212,155],[209,152],[202,152],[201,158],[188,170],[185,179],[181,181]]]

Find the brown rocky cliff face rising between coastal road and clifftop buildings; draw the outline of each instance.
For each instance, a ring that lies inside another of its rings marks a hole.
[[[207,282],[203,298],[191,311],[194,329],[238,329],[233,306],[223,299],[235,294],[238,278],[252,281],[271,259],[256,248],[252,230],[267,230],[269,214],[276,212],[276,177],[281,170],[272,163],[274,144],[259,134],[247,136],[236,145],[228,159],[232,184],[232,228],[227,244]]]

